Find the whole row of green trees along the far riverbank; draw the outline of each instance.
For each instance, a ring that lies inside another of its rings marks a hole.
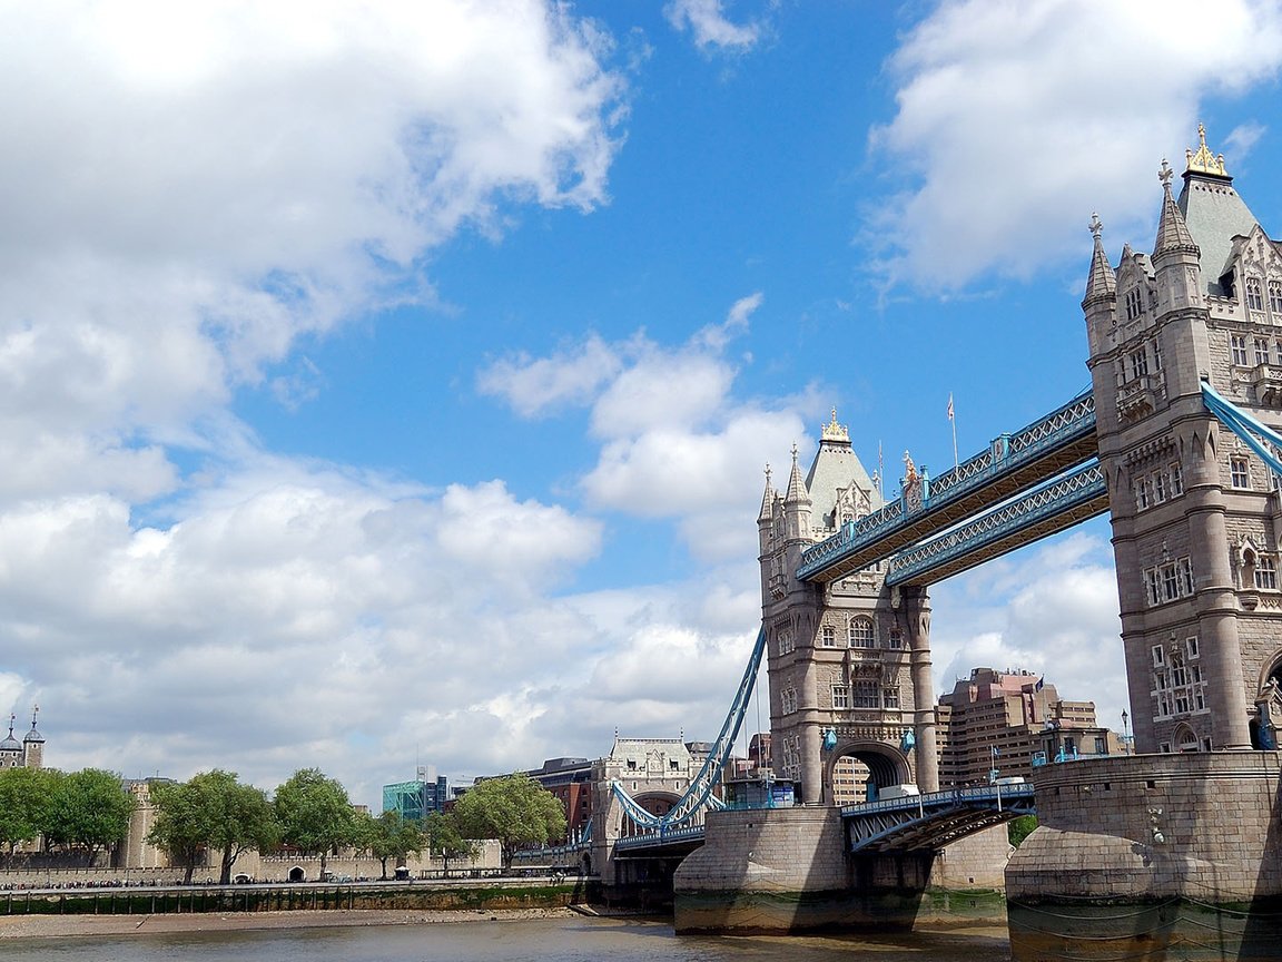
[[[368,852],[386,879],[388,861],[431,849],[447,868],[454,859],[472,858],[479,840],[497,839],[504,866],[510,866],[520,848],[565,834],[560,802],[524,775],[481,781],[454,811],[433,812],[422,822],[356,809],[346,789],[319,768],[295,772],[271,798],[221,768],[185,782],[154,781],[150,795],[155,817],[146,840],[169,853],[188,884],[203,863],[217,861],[226,885],[242,853],[285,848],[319,857],[322,875],[338,849]],[[19,843],[42,836],[49,847],[85,850],[91,865],[97,850],[124,839],[133,808],[112,772],[0,771],[0,843],[10,857]]]

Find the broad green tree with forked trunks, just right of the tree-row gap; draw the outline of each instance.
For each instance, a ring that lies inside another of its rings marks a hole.
[[[147,839],[178,858],[187,884],[204,852],[219,854],[218,880],[227,885],[242,852],[272,848],[279,835],[267,794],[240,784],[236,772],[215,768],[181,785],[156,785],[153,798],[158,811]]]

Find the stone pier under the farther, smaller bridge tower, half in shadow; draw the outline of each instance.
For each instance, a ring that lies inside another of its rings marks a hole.
[[[999,826],[945,854],[853,857],[838,808],[709,812],[704,847],[673,880],[674,927],[750,934],[1001,925],[1006,852]]]

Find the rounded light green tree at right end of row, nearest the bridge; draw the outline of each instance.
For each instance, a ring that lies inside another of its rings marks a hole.
[[[454,817],[464,838],[497,839],[505,868],[522,845],[545,845],[565,834],[562,803],[520,772],[473,785],[454,807]]]

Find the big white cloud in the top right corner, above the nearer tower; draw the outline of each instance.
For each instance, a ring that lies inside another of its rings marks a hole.
[[[896,113],[869,140],[877,169],[896,172],[865,224],[874,269],[888,285],[941,291],[988,272],[1027,278],[1079,255],[1091,210],[1111,236],[1147,224],[1161,158],[1196,146],[1199,103],[1282,64],[1276,4],[1201,10],[941,4],[892,56]]]

